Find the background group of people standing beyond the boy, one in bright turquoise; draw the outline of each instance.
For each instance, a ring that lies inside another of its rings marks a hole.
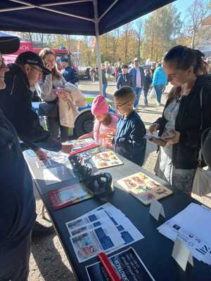
[[[114,66],[109,63],[102,63],[102,84],[103,84],[103,96],[106,98],[106,89],[108,86],[108,80],[111,79],[111,75],[115,77],[116,87],[120,89],[122,86],[131,86],[135,93],[134,108],[139,106],[139,100],[141,93],[144,94],[144,105],[148,106],[148,93],[151,89],[154,89],[158,105],[161,105],[162,93],[167,85],[167,75],[165,74],[162,63],[149,65],[140,65],[139,58],[134,58],[134,62],[131,65],[118,63]],[[98,79],[98,67],[92,67],[89,70],[91,81]]]

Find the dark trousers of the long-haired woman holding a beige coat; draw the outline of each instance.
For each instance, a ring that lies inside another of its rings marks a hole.
[[[68,127],[60,125],[59,117],[45,117],[45,121],[53,138],[58,138],[60,129],[60,141],[68,141]]]

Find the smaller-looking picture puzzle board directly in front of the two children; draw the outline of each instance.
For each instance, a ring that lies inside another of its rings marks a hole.
[[[117,157],[117,155],[115,155],[112,150],[98,153],[91,159],[97,169],[105,169],[111,166],[123,165],[122,161]]]

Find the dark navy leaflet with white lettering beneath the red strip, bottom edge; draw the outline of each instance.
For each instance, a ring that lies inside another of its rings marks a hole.
[[[136,254],[136,251],[132,247],[121,251],[119,254],[110,256],[108,259],[122,281],[155,281],[143,261],[141,261],[138,254]],[[86,270],[89,281],[110,280],[100,261],[98,263],[93,263],[90,266],[86,266]]]

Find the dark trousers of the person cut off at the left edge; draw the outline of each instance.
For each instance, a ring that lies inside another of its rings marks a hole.
[[[20,244],[8,252],[0,251],[0,280],[27,281],[31,252],[30,233]]]

